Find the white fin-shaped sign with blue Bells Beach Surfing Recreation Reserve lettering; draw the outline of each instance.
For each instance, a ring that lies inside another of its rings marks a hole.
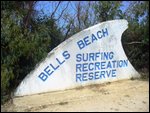
[[[126,20],[94,25],[67,39],[30,72],[15,96],[65,90],[139,77],[125,55],[121,35]]]

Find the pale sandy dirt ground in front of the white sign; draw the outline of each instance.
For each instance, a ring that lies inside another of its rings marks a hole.
[[[123,80],[13,98],[1,111],[149,112],[149,81]]]

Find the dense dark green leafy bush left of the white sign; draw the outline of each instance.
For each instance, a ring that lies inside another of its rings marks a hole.
[[[3,98],[4,95],[10,94],[35,65],[61,42],[62,36],[54,19],[46,16],[34,18],[35,12],[30,2],[1,3],[1,98]],[[27,8],[28,6],[30,7]]]

